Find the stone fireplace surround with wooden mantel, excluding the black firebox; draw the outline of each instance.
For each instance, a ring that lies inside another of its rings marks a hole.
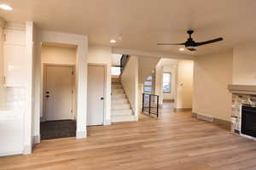
[[[241,133],[242,106],[256,107],[256,86],[229,85],[229,90],[232,93],[231,132],[244,135]]]

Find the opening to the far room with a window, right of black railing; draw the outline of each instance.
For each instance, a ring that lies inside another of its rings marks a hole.
[[[192,111],[193,72],[193,60],[160,59],[155,92],[160,96],[161,111]]]

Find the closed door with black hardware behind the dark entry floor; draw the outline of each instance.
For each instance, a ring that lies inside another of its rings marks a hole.
[[[46,120],[73,119],[73,67],[47,65],[45,69]]]

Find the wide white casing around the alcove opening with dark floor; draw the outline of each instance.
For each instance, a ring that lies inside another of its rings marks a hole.
[[[76,139],[87,137],[86,116],[87,116],[87,64],[88,64],[88,37],[86,35],[68,34],[57,31],[44,31],[40,29],[32,30],[37,38],[34,38],[34,91],[33,107],[34,116],[31,118],[32,132],[26,131],[30,137],[30,144],[40,143],[40,117],[43,116],[43,77],[41,64],[41,48],[44,42],[54,42],[61,44],[71,44],[77,46],[76,53],[76,119],[77,130]],[[28,119],[30,120],[30,119]],[[32,137],[32,138],[31,138]],[[26,146],[32,148],[32,146]],[[31,153],[31,150],[28,152]]]

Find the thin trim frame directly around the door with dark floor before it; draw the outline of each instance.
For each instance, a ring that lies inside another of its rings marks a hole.
[[[73,71],[74,71],[74,75],[73,75],[73,99],[72,99],[72,109],[73,109],[73,119],[75,119],[76,115],[77,115],[77,112],[76,112],[76,98],[77,98],[77,93],[76,93],[76,88],[75,88],[75,81],[76,81],[76,78],[75,78],[75,65],[66,65],[66,64],[50,64],[50,63],[44,63],[43,64],[43,72],[44,72],[44,75],[43,75],[43,117],[42,117],[42,121],[46,121],[46,98],[45,98],[45,89],[46,89],[46,67],[47,66],[65,66],[65,67],[71,67],[73,68]]]

